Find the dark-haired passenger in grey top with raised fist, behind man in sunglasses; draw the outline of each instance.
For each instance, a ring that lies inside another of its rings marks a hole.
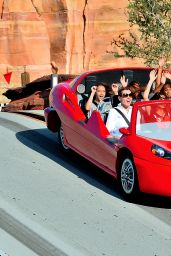
[[[103,121],[105,121],[106,114],[112,107],[110,102],[104,102],[106,88],[107,85],[104,83],[99,83],[91,87],[90,97],[85,104],[85,109],[88,111],[88,118],[90,118],[94,110],[98,110],[101,113]]]

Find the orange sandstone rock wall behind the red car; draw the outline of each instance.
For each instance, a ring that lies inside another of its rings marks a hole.
[[[0,0],[0,94],[51,73],[77,74],[90,69],[141,65],[107,53],[114,36],[127,32],[128,0]],[[3,74],[13,71],[11,83]],[[5,98],[0,101],[5,101]]]

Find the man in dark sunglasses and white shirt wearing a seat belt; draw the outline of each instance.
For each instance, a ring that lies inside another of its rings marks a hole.
[[[118,99],[120,103],[116,108],[112,108],[109,111],[109,115],[106,122],[106,127],[110,132],[112,138],[118,140],[121,137],[119,129],[121,127],[128,127],[132,114],[132,92],[129,87],[125,87],[119,90]]]

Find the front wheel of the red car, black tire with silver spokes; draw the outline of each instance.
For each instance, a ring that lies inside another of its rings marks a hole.
[[[129,202],[139,198],[139,184],[136,167],[132,157],[128,154],[120,162],[118,181],[123,197]]]

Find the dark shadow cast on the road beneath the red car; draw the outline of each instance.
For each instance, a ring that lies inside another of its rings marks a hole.
[[[21,131],[16,133],[16,137],[27,147],[50,158],[87,183],[103,190],[105,193],[124,200],[120,195],[118,184],[113,177],[75,152],[69,155],[61,152],[57,135],[51,133],[48,129]],[[141,194],[137,204],[171,209],[171,198]]]

